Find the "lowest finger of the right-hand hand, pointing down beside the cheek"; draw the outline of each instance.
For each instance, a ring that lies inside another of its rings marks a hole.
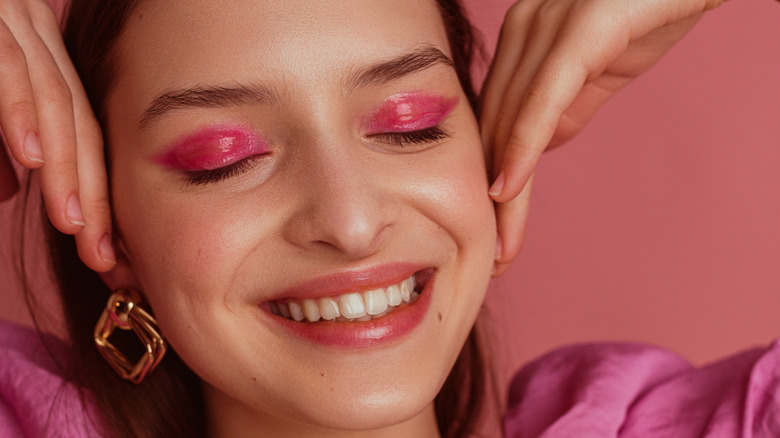
[[[532,185],[533,177],[529,179],[528,184],[516,198],[503,204],[496,204],[496,221],[500,242],[497,246],[500,251],[496,251],[494,276],[506,272],[523,247],[531,204]]]

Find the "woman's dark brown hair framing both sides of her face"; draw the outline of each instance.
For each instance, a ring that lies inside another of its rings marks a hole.
[[[472,58],[478,52],[474,31],[458,0],[437,0],[453,61],[472,108],[476,93]],[[98,120],[115,76],[114,45],[139,0],[74,0],[65,42]],[[198,437],[205,431],[200,380],[169,350],[160,366],[140,385],[120,379],[92,343],[92,330],[110,291],[84,266],[71,236],[47,222],[53,268],[62,294],[72,354],[67,377],[87,390],[99,408],[106,433],[122,437]],[[88,291],[88,292],[87,292]],[[477,329],[471,333],[435,400],[439,430],[445,437],[476,432],[482,419],[489,378]],[[131,342],[128,344],[130,346]],[[118,340],[117,342],[121,342]],[[135,341],[137,343],[137,340]]]

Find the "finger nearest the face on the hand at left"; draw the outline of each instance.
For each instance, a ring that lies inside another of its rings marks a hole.
[[[111,243],[102,133],[59,33],[51,26],[44,26],[39,29],[39,34],[49,47],[73,96],[79,195],[87,222],[84,230],[76,235],[79,256],[91,269],[105,272],[113,268],[116,259]]]

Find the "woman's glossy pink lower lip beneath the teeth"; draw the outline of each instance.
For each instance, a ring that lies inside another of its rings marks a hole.
[[[430,307],[434,280],[435,278],[429,279],[413,303],[403,305],[392,313],[371,321],[308,323],[268,314],[285,330],[317,344],[346,349],[384,345],[403,338],[420,325]]]

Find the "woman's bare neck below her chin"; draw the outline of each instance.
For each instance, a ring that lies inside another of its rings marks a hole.
[[[363,430],[338,430],[325,425],[274,416],[252,409],[210,385],[204,385],[207,437],[440,438],[433,402],[412,418]],[[327,402],[327,401],[324,401]]]

